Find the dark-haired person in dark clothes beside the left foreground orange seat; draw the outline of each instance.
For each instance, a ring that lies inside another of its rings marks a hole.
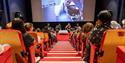
[[[25,30],[24,21],[22,20],[13,20],[12,21],[12,29],[19,30],[22,33],[24,39],[24,45],[26,47],[27,52],[29,52],[29,47],[34,44],[34,39],[31,37]],[[28,54],[28,58],[30,58],[30,54]],[[31,61],[30,59],[28,60]],[[30,62],[31,63],[31,62]]]

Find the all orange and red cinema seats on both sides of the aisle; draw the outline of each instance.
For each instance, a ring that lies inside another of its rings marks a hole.
[[[20,31],[12,30],[12,29],[2,29],[0,30],[0,44],[8,43],[12,46],[12,57],[13,57],[13,63],[28,63],[28,59],[31,60],[31,63],[35,63],[35,52],[37,51],[42,56],[45,56],[45,50],[52,44],[49,42],[48,33],[45,33],[45,35],[42,32],[36,33],[36,32],[28,32],[32,37],[34,37],[35,41],[32,46],[30,46],[29,52],[30,52],[30,58],[26,56],[26,48],[24,46],[22,34]],[[41,40],[38,40],[38,36],[41,36]],[[72,35],[72,34],[71,34]],[[78,34],[81,35],[81,34]],[[44,38],[47,37],[47,38]],[[76,36],[70,37],[71,38],[71,44],[78,50],[82,51],[81,55],[84,57],[84,51],[85,42],[82,42],[81,38]],[[87,39],[88,40],[88,39]],[[86,40],[86,43],[87,43]],[[44,47],[44,42],[47,42],[47,48]],[[79,43],[78,43],[79,42]],[[77,45],[78,44],[78,45]],[[35,49],[36,45],[40,45],[39,48]],[[119,54],[116,53],[116,47],[117,46],[125,46],[125,30],[118,29],[118,30],[107,30],[103,34],[103,38],[101,41],[101,47],[100,51],[104,51],[104,55],[102,57],[95,58],[96,53],[96,46],[94,44],[91,44],[91,53],[90,53],[90,63],[94,63],[94,60],[98,60],[98,63],[124,63],[119,62],[116,60],[117,56],[119,57]],[[109,57],[110,56],[110,57]],[[119,59],[119,58],[118,58]]]

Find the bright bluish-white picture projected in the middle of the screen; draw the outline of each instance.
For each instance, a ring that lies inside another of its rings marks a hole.
[[[84,0],[41,0],[42,21],[83,21]]]

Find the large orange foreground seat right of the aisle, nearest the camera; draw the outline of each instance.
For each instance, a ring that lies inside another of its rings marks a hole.
[[[116,63],[116,47],[125,45],[125,30],[124,29],[110,29],[106,31],[103,46],[104,51],[102,57],[99,57],[99,63]],[[110,57],[109,57],[110,56]]]

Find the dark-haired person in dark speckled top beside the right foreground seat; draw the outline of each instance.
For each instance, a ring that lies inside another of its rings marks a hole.
[[[86,46],[86,55],[84,58],[84,61],[86,63],[89,63],[90,59],[90,43],[95,44],[97,47],[96,52],[98,52],[101,44],[101,39],[103,36],[104,31],[110,29],[110,21],[112,19],[112,15],[108,10],[103,10],[100,11],[99,14],[97,15],[97,23],[98,26],[95,26],[93,30],[91,31],[90,37],[88,38],[88,44]],[[97,55],[95,54],[94,59],[97,58]],[[94,63],[97,63],[96,60],[94,60]]]

